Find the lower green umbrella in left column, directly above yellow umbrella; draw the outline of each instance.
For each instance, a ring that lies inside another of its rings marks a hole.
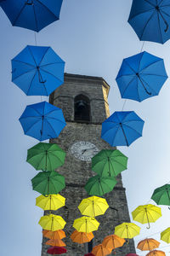
[[[33,190],[42,195],[53,195],[65,188],[65,177],[58,172],[39,172],[31,183]]]

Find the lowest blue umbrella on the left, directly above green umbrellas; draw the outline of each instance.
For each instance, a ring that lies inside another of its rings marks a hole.
[[[62,110],[48,102],[27,106],[19,120],[24,133],[39,141],[58,137],[66,125]]]

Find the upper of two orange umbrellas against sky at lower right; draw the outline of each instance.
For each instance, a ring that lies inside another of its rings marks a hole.
[[[151,251],[160,246],[160,242],[156,241],[153,238],[146,238],[142,241],[139,241],[138,247],[141,251]]]

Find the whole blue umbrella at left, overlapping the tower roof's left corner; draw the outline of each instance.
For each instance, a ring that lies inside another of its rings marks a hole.
[[[12,81],[27,96],[48,96],[64,83],[64,70],[53,49],[28,45],[12,60]]]

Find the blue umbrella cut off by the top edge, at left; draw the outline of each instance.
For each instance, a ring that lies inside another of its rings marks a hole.
[[[55,20],[63,0],[3,0],[0,2],[13,26],[25,27],[39,32]]]

